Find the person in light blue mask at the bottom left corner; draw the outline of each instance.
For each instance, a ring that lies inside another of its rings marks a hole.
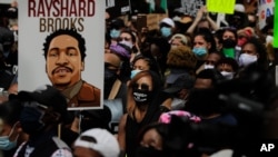
[[[0,105],[0,118],[2,127],[0,131],[0,150],[4,157],[11,157],[21,143],[28,139],[22,133],[19,116],[22,107],[17,100],[8,100]]]

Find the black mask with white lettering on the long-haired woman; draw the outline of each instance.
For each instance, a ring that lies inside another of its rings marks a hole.
[[[135,98],[136,105],[146,105],[150,102],[151,91],[133,89],[133,98]]]

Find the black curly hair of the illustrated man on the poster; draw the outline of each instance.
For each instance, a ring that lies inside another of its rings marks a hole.
[[[83,61],[85,57],[86,57],[86,52],[85,52],[86,51],[86,46],[85,46],[86,42],[85,42],[85,38],[80,33],[78,33],[76,29],[59,29],[59,30],[56,30],[54,32],[50,33],[46,38],[46,42],[43,43],[43,56],[44,56],[44,58],[47,59],[50,42],[56,37],[61,36],[61,35],[68,35],[68,36],[71,36],[75,39],[77,39],[78,48],[79,48],[80,53],[81,53],[81,60]]]

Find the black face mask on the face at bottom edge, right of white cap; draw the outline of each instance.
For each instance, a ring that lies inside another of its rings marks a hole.
[[[158,150],[153,147],[138,147],[136,150],[136,157],[166,157],[162,150]]]

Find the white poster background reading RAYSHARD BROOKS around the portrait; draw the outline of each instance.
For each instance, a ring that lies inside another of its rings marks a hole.
[[[100,105],[72,106],[69,110],[102,108],[106,1],[20,0],[18,2],[19,90],[32,91],[41,85],[53,85],[47,73],[43,43],[56,30],[75,28],[86,41],[81,80],[100,89]]]

